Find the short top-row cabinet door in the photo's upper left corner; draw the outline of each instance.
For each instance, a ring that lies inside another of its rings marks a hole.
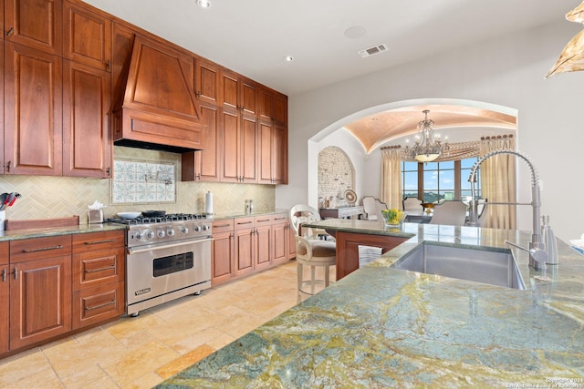
[[[5,0],[5,39],[62,54],[62,0]]]

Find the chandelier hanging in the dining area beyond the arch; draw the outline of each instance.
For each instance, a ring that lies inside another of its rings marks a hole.
[[[407,159],[416,159],[420,162],[430,162],[434,159],[440,157],[443,152],[448,153],[450,147],[448,146],[448,139],[444,145],[440,141],[440,135],[434,134],[432,119],[428,118],[428,109],[424,109],[422,113],[425,118],[418,123],[418,130],[422,133],[422,138],[420,135],[416,135],[415,145],[410,148],[406,140],[405,150],[403,154]]]

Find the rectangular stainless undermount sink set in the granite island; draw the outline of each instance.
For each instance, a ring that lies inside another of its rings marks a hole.
[[[391,267],[507,288],[526,289],[511,251],[473,250],[422,243]]]

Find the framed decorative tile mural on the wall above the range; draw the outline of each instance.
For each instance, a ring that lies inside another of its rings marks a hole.
[[[111,203],[176,202],[176,170],[172,162],[115,159]]]

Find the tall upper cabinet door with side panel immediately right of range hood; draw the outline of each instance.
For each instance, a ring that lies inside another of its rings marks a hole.
[[[189,151],[181,155],[182,180],[216,182],[221,180],[222,131],[221,108],[201,104],[201,120],[203,129],[204,149]]]

